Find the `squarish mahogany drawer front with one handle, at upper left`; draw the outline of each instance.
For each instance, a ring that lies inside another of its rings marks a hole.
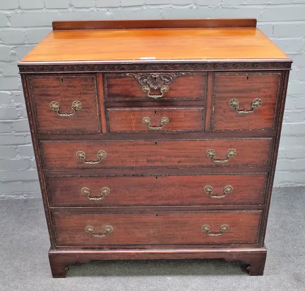
[[[39,133],[99,133],[96,75],[30,76]]]

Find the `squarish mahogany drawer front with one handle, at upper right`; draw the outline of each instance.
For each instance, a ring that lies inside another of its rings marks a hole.
[[[215,73],[210,130],[275,130],[281,73]]]

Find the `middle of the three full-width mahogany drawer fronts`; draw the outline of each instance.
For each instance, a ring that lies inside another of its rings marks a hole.
[[[47,176],[50,206],[263,204],[267,175]]]

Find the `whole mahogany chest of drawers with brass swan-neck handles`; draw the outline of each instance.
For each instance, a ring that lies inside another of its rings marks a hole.
[[[54,22],[19,63],[53,277],[146,258],[262,275],[291,62],[255,19]]]

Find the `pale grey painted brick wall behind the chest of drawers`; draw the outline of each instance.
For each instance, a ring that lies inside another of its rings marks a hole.
[[[256,17],[293,60],[275,186],[305,185],[305,0],[0,0],[0,199],[40,195],[17,62],[53,20]]]

